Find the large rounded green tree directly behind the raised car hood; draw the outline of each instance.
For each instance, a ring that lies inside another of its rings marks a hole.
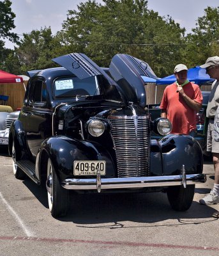
[[[84,52],[100,66],[107,67],[114,54],[132,54],[158,76],[172,72],[185,48],[185,29],[148,10],[144,0],[80,3],[77,11],[68,12],[61,33],[69,49]]]

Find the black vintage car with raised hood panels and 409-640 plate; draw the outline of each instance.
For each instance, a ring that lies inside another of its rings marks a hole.
[[[70,191],[165,191],[173,209],[186,211],[195,183],[206,181],[202,150],[190,136],[169,134],[169,120],[151,120],[149,65],[126,54],[114,56],[109,68],[79,53],[53,61],[62,67],[30,73],[10,127],[15,177],[47,187],[54,217],[66,214]],[[166,136],[151,140],[151,131]]]

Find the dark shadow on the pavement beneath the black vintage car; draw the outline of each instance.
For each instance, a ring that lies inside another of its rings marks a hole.
[[[45,188],[39,187],[29,179],[23,183],[44,207],[49,208]],[[205,188],[195,189],[195,193],[200,194],[209,191],[210,189]],[[86,228],[89,227],[83,225],[92,225],[95,228],[121,228],[118,224],[121,221],[136,222],[138,227],[139,223],[155,223],[154,227],[158,225],[157,222],[170,219],[176,219],[177,225],[215,221],[216,219],[212,218],[213,212],[215,209],[212,207],[200,205],[195,201],[186,212],[174,211],[170,207],[167,195],[162,192],[87,195],[72,193],[68,214],[59,220],[70,221]]]

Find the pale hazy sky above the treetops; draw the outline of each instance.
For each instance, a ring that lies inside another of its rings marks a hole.
[[[1,0],[3,1],[3,0]],[[30,33],[33,29],[40,30],[45,26],[55,34],[61,30],[67,18],[68,10],[77,10],[77,5],[87,0],[10,0],[11,9],[15,13],[13,32],[18,35]],[[96,0],[102,3],[101,0]],[[181,28],[190,33],[195,28],[198,17],[204,15],[208,6],[218,7],[218,0],[148,0],[148,9],[158,12],[160,16],[170,15]],[[13,49],[13,44],[6,40],[6,48]]]

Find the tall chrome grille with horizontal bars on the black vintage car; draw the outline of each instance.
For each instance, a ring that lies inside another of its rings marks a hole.
[[[149,176],[149,116],[109,116],[118,177]]]

